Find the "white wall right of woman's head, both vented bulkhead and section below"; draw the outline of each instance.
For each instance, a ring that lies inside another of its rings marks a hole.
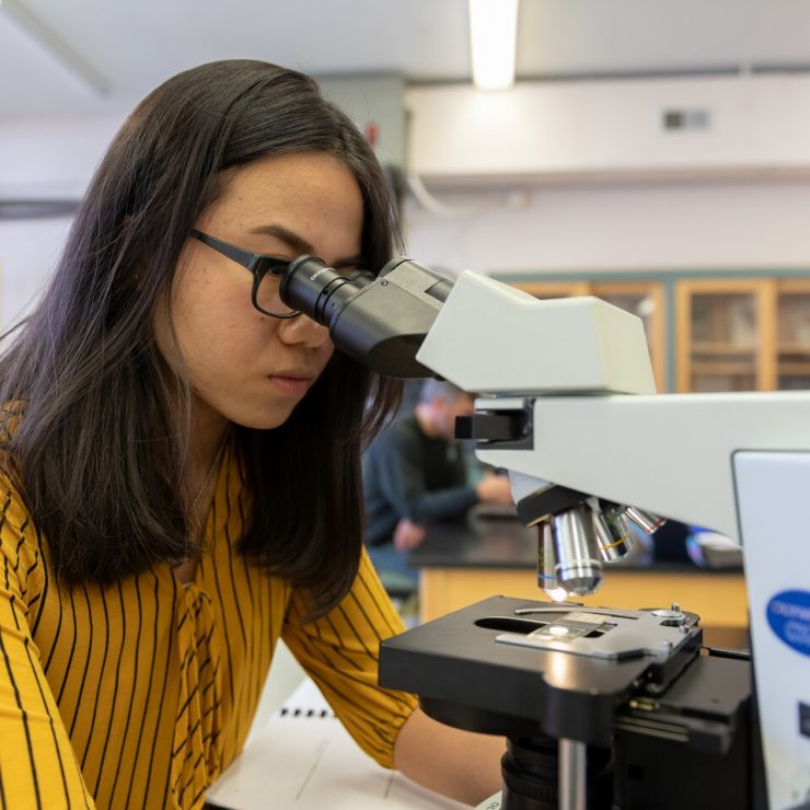
[[[807,76],[424,85],[406,103],[410,171],[443,189],[408,206],[427,264],[810,269]],[[672,129],[672,111],[702,125]]]

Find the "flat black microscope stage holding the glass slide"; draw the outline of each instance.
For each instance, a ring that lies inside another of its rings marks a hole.
[[[491,597],[384,641],[380,683],[461,728],[609,745],[617,708],[699,651],[697,616],[656,613]]]

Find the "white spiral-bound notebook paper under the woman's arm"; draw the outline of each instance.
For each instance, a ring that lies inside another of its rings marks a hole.
[[[306,679],[208,791],[229,810],[456,810],[466,807],[378,765]]]

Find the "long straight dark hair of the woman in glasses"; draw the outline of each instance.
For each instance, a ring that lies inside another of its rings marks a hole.
[[[113,140],[49,288],[0,358],[0,447],[67,585],[107,585],[185,554],[190,393],[155,346],[155,301],[169,300],[188,231],[227,170],[312,150],[356,177],[362,255],[379,269],[400,246],[385,177],[357,127],[301,73],[252,60],[185,71]],[[360,442],[398,389],[336,352],[285,425],[233,431],[254,496],[241,551],[305,589],[312,615],[356,576]]]

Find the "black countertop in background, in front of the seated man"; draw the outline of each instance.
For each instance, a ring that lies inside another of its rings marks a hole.
[[[408,556],[416,568],[505,568],[526,569],[537,566],[537,529],[526,529],[518,520],[506,518],[441,522],[432,524],[425,541]],[[688,559],[656,560],[639,555],[613,564],[612,569],[659,574],[729,574],[742,568],[703,568]]]

